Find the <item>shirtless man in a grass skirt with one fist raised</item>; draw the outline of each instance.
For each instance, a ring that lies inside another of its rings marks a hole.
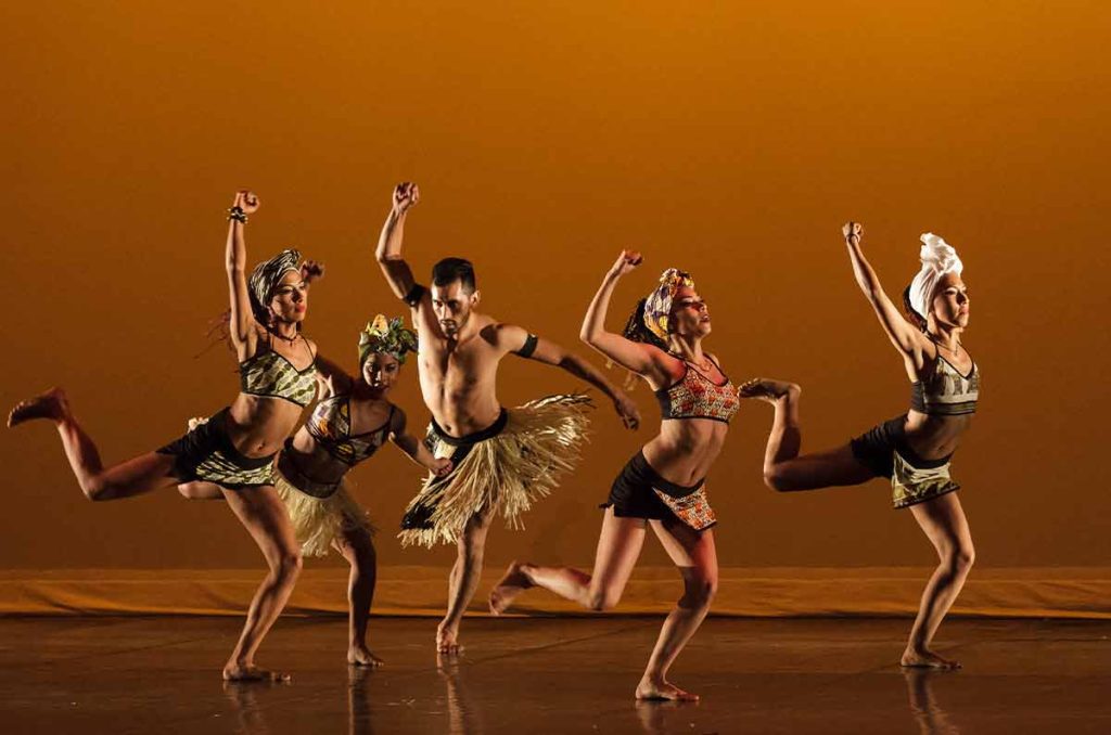
[[[414,183],[393,190],[392,208],[376,256],[393,293],[412,309],[418,334],[417,370],[432,414],[427,443],[449,456],[452,472],[429,476],[409,504],[400,537],[409,545],[456,543],[448,578],[448,611],[437,630],[437,651],[459,651],[459,623],[482,572],[487,532],[496,512],[507,526],[556,486],[573,467],[584,437],[588,401],[553,395],[507,411],[498,401],[498,365],[516,353],[557,365],[601,390],[627,429],[637,429],[637,405],[589,362],[530,334],[521,326],[478,312],[479,291],[470,262],[446,258],[432,268],[431,290],[413,280],[401,256],[406,214],[418,202]]]

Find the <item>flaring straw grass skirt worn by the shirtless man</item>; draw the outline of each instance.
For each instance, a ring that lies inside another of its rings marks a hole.
[[[429,475],[406,509],[428,514],[423,527],[403,527],[402,546],[454,543],[476,514],[492,509],[508,528],[523,527],[521,515],[556,489],[574,469],[587,440],[585,395],[549,395],[509,410],[506,427],[473,444],[449,443],[434,427],[426,439],[437,457],[461,457],[447,477]],[[429,511],[430,509],[430,511]]]

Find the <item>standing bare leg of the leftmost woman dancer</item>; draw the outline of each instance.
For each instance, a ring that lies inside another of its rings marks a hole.
[[[293,525],[277,491],[266,485],[224,490],[228,505],[259,545],[270,573],[259,585],[247,611],[243,632],[223,667],[226,679],[286,681],[278,674],[254,665],[254,653],[270,626],[278,620],[293,585],[301,573],[301,550],[293,535]]]

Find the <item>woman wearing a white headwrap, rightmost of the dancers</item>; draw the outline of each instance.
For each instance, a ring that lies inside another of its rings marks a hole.
[[[890,480],[894,507],[909,507],[938,551],[940,564],[922,593],[903,666],[955,668],[957,662],[930,650],[933,634],[972,567],[972,536],[949,475],[949,460],[969,427],[980,395],[980,372],[961,342],[969,323],[963,264],[941,238],[922,235],[922,270],[903,292],[907,316],[883,292],[860,249],[857,222],[844,225],[849,259],[888,339],[912,383],[911,407],[839,449],[799,456],[798,385],[757,379],[741,396],[775,406],[764,455],[764,482],[772,490],[817,490]]]

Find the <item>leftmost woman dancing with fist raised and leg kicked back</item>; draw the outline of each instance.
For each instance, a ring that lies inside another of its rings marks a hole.
[[[300,254],[287,250],[260,263],[250,280],[246,276],[243,229],[258,208],[258,198],[241,191],[229,210],[230,335],[241,380],[231,405],[167,446],[109,467],[101,463],[61,389],[21,402],[8,416],[9,426],[32,419],[52,421],[78,484],[92,501],[120,500],[197,481],[220,486],[270,567],[223,667],[226,679],[288,678],[254,664],[254,653],[301,570],[293,526],[274,490],[273,459],[312,401],[317,383],[317,349],[301,335],[308,294]]]

